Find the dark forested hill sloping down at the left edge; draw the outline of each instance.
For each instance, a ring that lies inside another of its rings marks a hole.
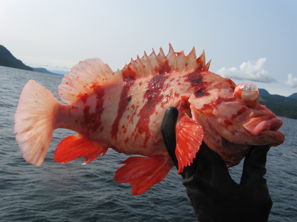
[[[15,58],[11,54],[11,52],[2,45],[0,45],[0,65],[16,69],[34,71],[31,67],[25,65],[20,59]]]

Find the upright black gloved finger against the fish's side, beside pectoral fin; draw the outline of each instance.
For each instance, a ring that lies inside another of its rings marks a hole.
[[[169,107],[164,115],[161,132],[167,152],[173,160],[174,165],[178,168],[178,161],[175,155],[176,137],[175,137],[175,125],[178,117],[178,110],[175,107]]]

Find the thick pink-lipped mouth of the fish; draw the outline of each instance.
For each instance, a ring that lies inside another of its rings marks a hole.
[[[270,120],[263,120],[263,118],[252,118],[243,126],[254,136],[265,136],[272,138],[274,142],[271,143],[271,147],[276,147],[282,144],[285,140],[285,135],[278,131],[282,126],[282,123],[283,122],[280,118],[273,118]],[[263,141],[265,141],[264,138]]]

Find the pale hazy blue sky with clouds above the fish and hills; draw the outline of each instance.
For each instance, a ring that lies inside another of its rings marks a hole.
[[[31,67],[67,71],[100,58],[113,71],[169,43],[209,71],[270,94],[297,92],[297,1],[0,0],[0,44]]]

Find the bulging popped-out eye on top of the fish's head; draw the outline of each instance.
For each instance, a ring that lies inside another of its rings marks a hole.
[[[241,102],[250,107],[257,107],[259,90],[252,83],[240,83],[235,89],[233,95]]]

